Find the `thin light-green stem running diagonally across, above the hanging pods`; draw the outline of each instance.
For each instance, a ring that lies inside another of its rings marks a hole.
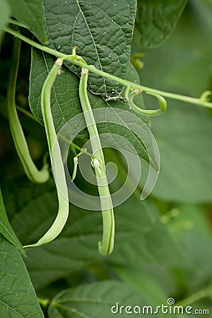
[[[114,76],[114,75],[112,75],[110,73],[106,73],[105,71],[100,71],[100,69],[95,69],[95,67],[93,65],[86,64],[85,62],[83,62],[82,58],[78,57],[77,55],[76,56],[73,56],[73,55],[70,56],[70,55],[63,54],[61,52],[57,52],[54,49],[50,49],[49,47],[45,47],[43,45],[40,45],[40,44],[34,42],[33,40],[28,39],[28,37],[25,37],[24,35],[20,35],[20,33],[14,31],[14,30],[11,30],[10,28],[4,28],[4,30],[6,32],[8,32],[8,33],[11,33],[12,35],[14,35],[16,37],[19,37],[21,40],[27,42],[29,45],[32,45],[33,47],[36,47],[37,49],[42,50],[43,52],[47,52],[49,54],[52,54],[55,57],[61,57],[62,59],[66,59],[67,61],[70,61],[72,64],[81,66],[81,68],[88,69],[89,71],[91,71],[93,73],[96,73],[96,74],[98,74],[100,76],[103,76],[103,77],[106,77],[106,78],[110,78],[110,80],[115,81],[117,83],[120,83],[123,86],[130,87],[131,90],[137,89],[137,90],[141,90],[141,91],[145,91],[145,92],[161,95],[161,96],[163,96],[165,98],[171,98],[171,99],[174,99],[174,100],[180,100],[182,102],[189,102],[191,104],[199,105],[201,107],[212,108],[212,103],[211,102],[203,101],[200,98],[192,98],[192,97],[185,96],[185,95],[178,95],[178,94],[175,94],[175,93],[165,92],[163,90],[156,90],[154,88],[149,88],[147,86],[141,86],[139,84],[132,83],[130,81],[126,81],[126,80],[124,80],[122,78],[119,78],[117,76]]]

